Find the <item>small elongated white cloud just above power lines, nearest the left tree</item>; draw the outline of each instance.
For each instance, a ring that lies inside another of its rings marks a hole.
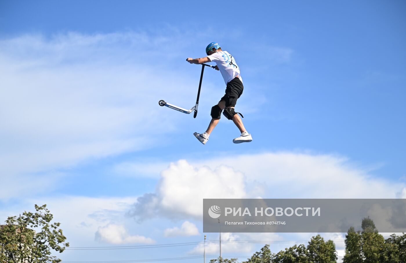
[[[155,243],[155,241],[149,237],[129,235],[127,229],[125,229],[123,225],[115,224],[108,224],[104,227],[99,227],[95,233],[95,240],[110,244]]]

